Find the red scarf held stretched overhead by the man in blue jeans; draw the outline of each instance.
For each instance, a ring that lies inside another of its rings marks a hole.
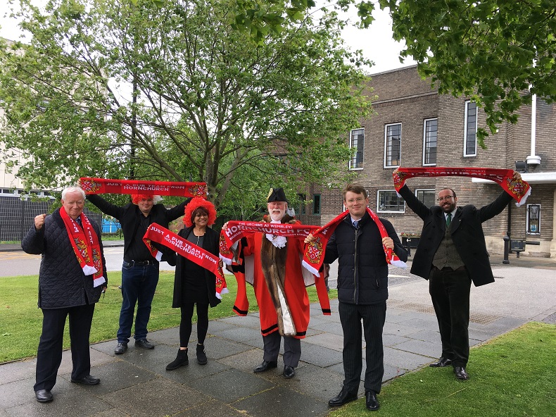
[[[156,194],[179,197],[206,198],[206,182],[169,182],[106,180],[104,178],[80,178],[81,187],[87,194]]]

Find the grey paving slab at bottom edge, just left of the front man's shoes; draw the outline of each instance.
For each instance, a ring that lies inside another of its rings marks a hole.
[[[326,403],[286,387],[276,387],[232,405],[248,415],[266,417],[326,416],[329,412]]]

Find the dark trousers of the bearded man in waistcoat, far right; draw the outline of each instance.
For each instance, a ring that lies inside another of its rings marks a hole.
[[[469,361],[470,291],[467,270],[431,270],[429,294],[438,320],[442,356],[452,359],[453,366],[467,366]]]

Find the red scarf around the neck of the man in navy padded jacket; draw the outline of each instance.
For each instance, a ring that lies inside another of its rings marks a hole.
[[[381,239],[383,237],[388,237],[388,232],[386,232],[386,229],[378,216],[368,207],[367,213],[369,213],[369,216],[371,216],[372,220],[379,228]],[[318,271],[322,266],[322,261],[324,261],[324,249],[327,247],[327,242],[334,233],[336,226],[339,225],[340,222],[346,218],[346,216],[349,216],[348,210],[344,211],[339,216],[336,216],[334,220],[331,220],[331,222],[322,226],[322,228],[319,228],[315,233],[313,233],[315,240],[307,245],[305,248],[305,255],[303,256],[303,266],[305,266],[305,268],[310,270],[313,274],[318,274]],[[386,255],[387,263],[390,263],[393,266],[398,266],[398,268],[407,267],[405,262],[401,261],[392,249],[384,247],[384,254]]]

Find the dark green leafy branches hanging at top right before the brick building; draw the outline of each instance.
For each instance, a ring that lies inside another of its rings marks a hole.
[[[442,94],[472,97],[491,132],[537,94],[556,100],[554,0],[380,0],[419,72]],[[483,146],[488,135],[477,132]]]

